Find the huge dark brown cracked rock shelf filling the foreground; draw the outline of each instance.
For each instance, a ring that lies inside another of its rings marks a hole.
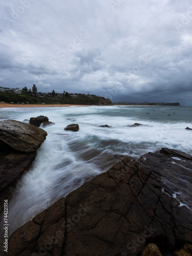
[[[191,169],[192,156],[167,148],[126,157],[17,229],[3,255],[133,256],[149,242],[191,248]]]

